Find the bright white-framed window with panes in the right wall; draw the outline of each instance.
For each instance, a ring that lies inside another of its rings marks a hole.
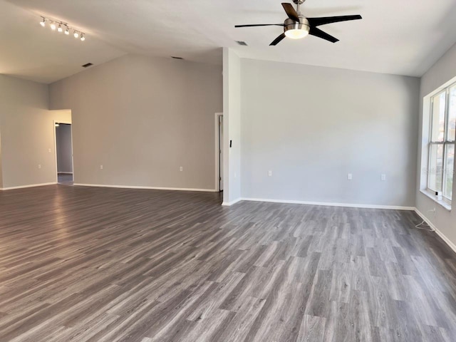
[[[431,98],[427,188],[452,199],[456,138],[456,84]]]

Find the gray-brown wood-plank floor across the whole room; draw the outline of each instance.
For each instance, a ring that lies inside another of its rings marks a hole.
[[[413,212],[55,185],[0,192],[0,341],[456,341]]]

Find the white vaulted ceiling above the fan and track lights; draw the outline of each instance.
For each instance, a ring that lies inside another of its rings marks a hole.
[[[291,1],[290,1],[291,2]],[[0,0],[0,73],[43,83],[125,53],[222,63],[222,46],[243,58],[422,76],[456,42],[455,0],[307,0],[304,15],[361,14],[321,26],[341,41],[309,36],[269,43],[286,15],[279,0]],[[85,42],[41,28],[40,16],[87,33]],[[234,41],[249,46],[237,46]]]

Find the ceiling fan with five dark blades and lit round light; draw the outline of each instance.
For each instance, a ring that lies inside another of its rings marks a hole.
[[[253,26],[283,26],[284,33],[274,39],[272,43],[269,45],[276,46],[278,43],[282,41],[285,37],[292,38],[292,39],[300,39],[304,38],[308,34],[312,36],[316,36],[318,38],[326,39],[326,41],[331,41],[331,43],[336,43],[338,38],[335,38],[329,35],[326,32],[321,31],[320,28],[317,26],[337,23],[339,21],[350,21],[350,20],[358,20],[363,19],[360,15],[356,16],[323,16],[320,18],[306,18],[304,15],[301,14],[299,11],[299,6],[304,4],[306,0],[293,0],[296,4],[297,9],[295,10],[292,4],[282,3],[284,6],[284,10],[286,11],[286,15],[288,18],[284,21],[284,24],[251,24],[251,25],[236,25],[234,27],[253,27]]]

